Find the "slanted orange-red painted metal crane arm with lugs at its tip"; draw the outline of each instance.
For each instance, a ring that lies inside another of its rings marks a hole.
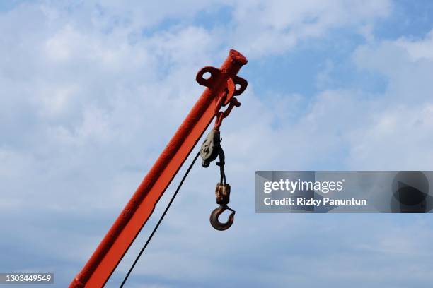
[[[154,211],[159,198],[214,118],[215,106],[221,95],[227,90],[233,90],[233,84],[238,84],[240,88],[235,88],[232,95],[240,95],[245,90],[246,80],[236,74],[246,63],[247,60],[242,54],[230,50],[221,68],[204,67],[199,71],[197,82],[207,86],[207,89],[144,177],[142,184],[112,224],[96,251],[72,280],[70,288],[103,287],[108,281]],[[203,78],[206,72],[211,73],[210,78]]]

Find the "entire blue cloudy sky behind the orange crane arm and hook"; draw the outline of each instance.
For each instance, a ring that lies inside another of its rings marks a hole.
[[[197,164],[127,287],[431,287],[431,215],[258,215],[254,176],[432,170],[433,3],[177,2],[0,2],[0,271],[66,287],[201,94],[197,71],[235,48],[235,224],[210,227],[218,169]]]

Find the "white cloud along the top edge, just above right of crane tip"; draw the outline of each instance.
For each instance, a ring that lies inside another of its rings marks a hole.
[[[299,41],[326,37],[333,28],[361,28],[387,16],[391,1],[238,1],[229,33],[250,57],[282,54]]]

